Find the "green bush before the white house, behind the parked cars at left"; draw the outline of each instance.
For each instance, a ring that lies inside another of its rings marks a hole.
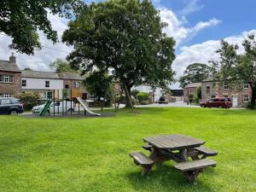
[[[32,92],[20,93],[17,98],[20,99],[25,109],[32,109],[34,106],[38,105],[40,95]]]

